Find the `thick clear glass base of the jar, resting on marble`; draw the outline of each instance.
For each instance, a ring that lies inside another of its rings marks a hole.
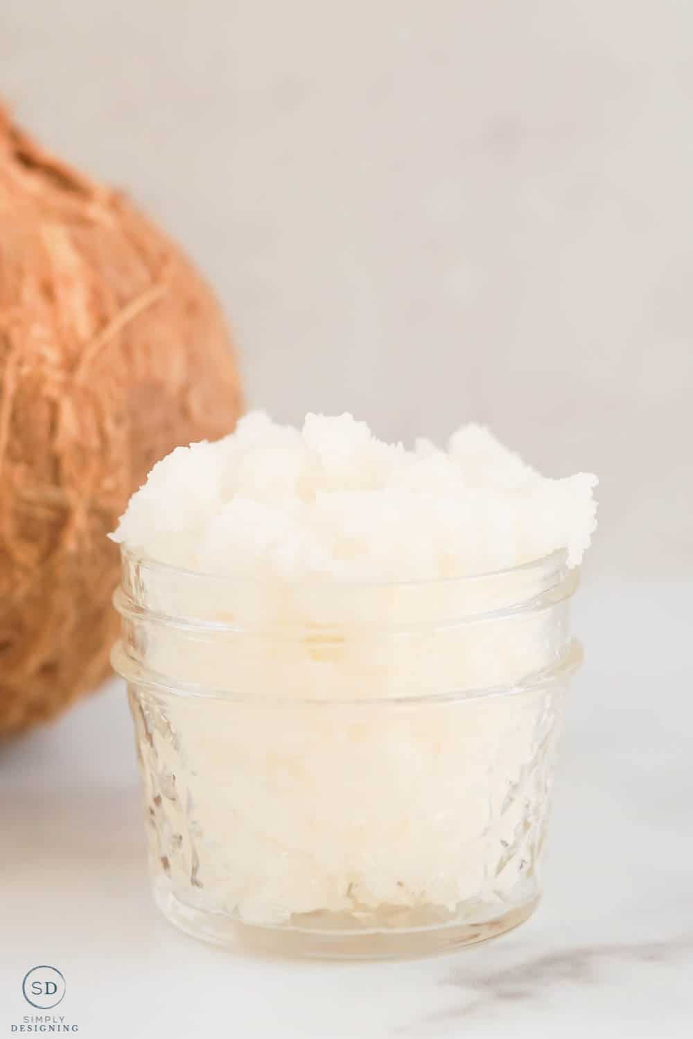
[[[328,931],[245,924],[224,913],[190,906],[163,885],[155,884],[154,899],[170,924],[201,941],[277,957],[334,960],[416,959],[450,953],[518,927],[532,915],[539,901],[536,897],[482,923],[467,921],[411,930]]]

